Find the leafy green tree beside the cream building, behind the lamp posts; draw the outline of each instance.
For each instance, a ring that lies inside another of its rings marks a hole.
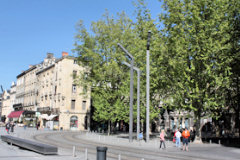
[[[122,64],[123,61],[129,61],[125,53],[117,47],[117,43],[121,43],[134,56],[134,65],[142,71],[141,117],[145,117],[147,33],[151,30],[153,39],[157,39],[158,30],[144,1],[137,1],[135,6],[135,22],[125,13],[118,14],[118,17],[114,18],[106,12],[103,19],[92,23],[91,34],[82,21],[77,25],[75,51],[79,54],[79,64],[89,69],[87,78],[84,78],[85,73],[82,73],[77,82],[83,86],[91,86],[93,118],[96,121],[124,120],[127,123],[129,121],[130,72],[129,68]],[[151,48],[155,48],[157,43],[152,46]],[[137,74],[134,75],[136,102]],[[151,86],[155,85],[151,84]],[[134,120],[136,120],[136,105],[134,111]],[[152,119],[158,115],[157,112],[158,109],[151,105]]]

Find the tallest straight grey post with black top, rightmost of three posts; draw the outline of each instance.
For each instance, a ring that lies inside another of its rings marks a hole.
[[[149,49],[150,49],[150,39],[151,39],[151,31],[148,31],[148,38],[147,38],[147,64],[146,64],[146,79],[147,79],[147,83],[146,83],[146,142],[149,142],[149,92],[150,92],[150,79],[149,79],[149,72],[150,72],[150,67],[149,67]]]

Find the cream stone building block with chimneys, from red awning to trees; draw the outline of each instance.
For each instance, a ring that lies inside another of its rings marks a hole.
[[[74,57],[52,53],[39,64],[17,76],[14,110],[28,113],[31,125],[49,129],[85,130],[90,126],[90,91],[74,84],[74,76],[84,72]],[[83,93],[83,94],[82,94]]]

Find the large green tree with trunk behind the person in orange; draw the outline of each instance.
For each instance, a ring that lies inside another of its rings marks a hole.
[[[229,87],[229,63],[226,54],[231,37],[228,0],[165,0],[164,24],[166,67],[164,82],[171,79],[173,105],[194,111],[197,135],[200,118],[219,116],[225,105],[224,89]]]

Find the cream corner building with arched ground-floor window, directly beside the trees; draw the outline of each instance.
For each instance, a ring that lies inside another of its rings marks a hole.
[[[36,73],[38,78],[38,111],[54,117],[54,126],[64,130],[88,129],[90,92],[74,84],[74,75],[84,72],[74,57],[63,56]],[[51,117],[49,117],[51,118]],[[46,125],[43,120],[43,125]]]

